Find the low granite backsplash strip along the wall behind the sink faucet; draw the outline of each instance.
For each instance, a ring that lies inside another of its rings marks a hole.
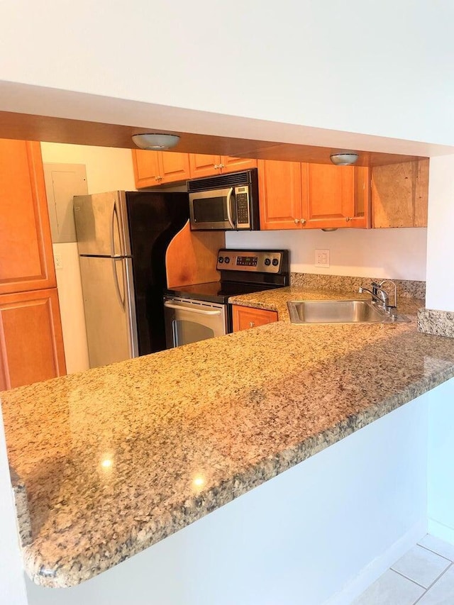
[[[358,293],[360,286],[371,288],[372,282],[380,282],[376,277],[348,277],[343,275],[326,275],[316,273],[292,273],[290,285],[311,290],[331,290],[333,292],[348,292],[352,296]],[[397,298],[426,299],[426,282],[411,279],[393,279],[397,287]],[[391,294],[392,288],[389,289]]]

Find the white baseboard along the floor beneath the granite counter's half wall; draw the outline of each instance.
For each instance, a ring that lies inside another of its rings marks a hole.
[[[453,531],[454,536],[454,530],[451,531]],[[333,594],[323,605],[350,605],[357,596],[364,592],[370,584],[375,582],[407,550],[421,540],[426,533],[433,532],[428,532],[427,519],[424,518],[415,523],[402,538],[394,542],[384,553],[372,560],[369,565],[363,567],[355,578],[348,582],[348,584],[345,584],[340,592]]]

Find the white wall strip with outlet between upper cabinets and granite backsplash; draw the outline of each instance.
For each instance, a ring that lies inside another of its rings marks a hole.
[[[226,233],[226,245],[288,248],[291,270],[353,277],[426,280],[424,228]],[[330,267],[315,267],[315,250],[330,251]]]

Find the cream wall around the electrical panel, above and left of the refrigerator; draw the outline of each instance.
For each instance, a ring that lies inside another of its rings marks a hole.
[[[45,163],[85,165],[89,194],[116,189],[135,191],[129,149],[41,143],[41,153]],[[68,374],[82,372],[89,368],[89,358],[77,243],[53,244],[53,249],[62,259],[62,268],[56,269],[55,274],[66,370]]]

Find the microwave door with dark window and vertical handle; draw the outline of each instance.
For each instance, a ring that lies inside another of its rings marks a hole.
[[[189,194],[189,218],[192,230],[236,229],[233,187]]]

